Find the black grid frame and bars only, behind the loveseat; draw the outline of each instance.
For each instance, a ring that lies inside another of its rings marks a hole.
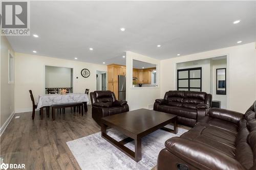
[[[191,70],[200,70],[200,78],[190,78]],[[179,71],[187,71],[188,77],[184,79],[179,79]],[[179,87],[179,80],[187,80],[188,87]],[[190,80],[200,80],[200,87],[190,87]],[[188,89],[188,91],[190,91],[190,89],[200,89],[200,91],[202,91],[202,67],[177,69],[177,90],[179,89]]]

